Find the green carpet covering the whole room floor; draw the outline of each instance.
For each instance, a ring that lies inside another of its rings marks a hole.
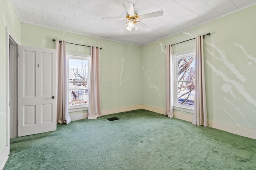
[[[256,170],[256,140],[139,109],[11,139],[9,156],[4,170]]]

